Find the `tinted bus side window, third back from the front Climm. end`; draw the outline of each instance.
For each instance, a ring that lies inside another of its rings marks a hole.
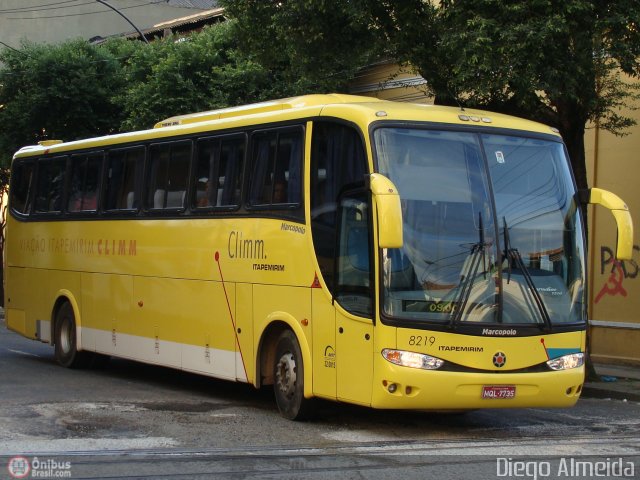
[[[184,207],[190,162],[191,142],[151,146],[147,208]]]

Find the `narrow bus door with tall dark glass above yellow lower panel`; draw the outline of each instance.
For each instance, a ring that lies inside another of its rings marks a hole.
[[[371,404],[373,276],[371,201],[365,189],[339,197],[336,245],[337,397]]]

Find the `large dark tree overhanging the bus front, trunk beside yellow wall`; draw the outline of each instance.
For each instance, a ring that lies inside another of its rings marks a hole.
[[[556,127],[579,188],[587,125],[622,135],[635,123],[619,108],[638,98],[639,0],[221,3],[238,19],[242,47],[267,67],[286,65],[308,91],[344,90],[358,68],[385,56],[412,65],[436,103]]]

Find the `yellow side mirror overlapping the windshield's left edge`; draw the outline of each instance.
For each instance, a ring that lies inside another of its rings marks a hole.
[[[402,247],[402,209],[398,189],[380,173],[369,176],[369,186],[378,211],[378,242],[380,248]]]

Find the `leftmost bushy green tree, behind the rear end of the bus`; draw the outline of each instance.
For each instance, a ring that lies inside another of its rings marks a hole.
[[[38,140],[107,134],[122,122],[113,100],[124,78],[107,49],[83,40],[25,43],[0,52],[0,62],[0,165]]]

